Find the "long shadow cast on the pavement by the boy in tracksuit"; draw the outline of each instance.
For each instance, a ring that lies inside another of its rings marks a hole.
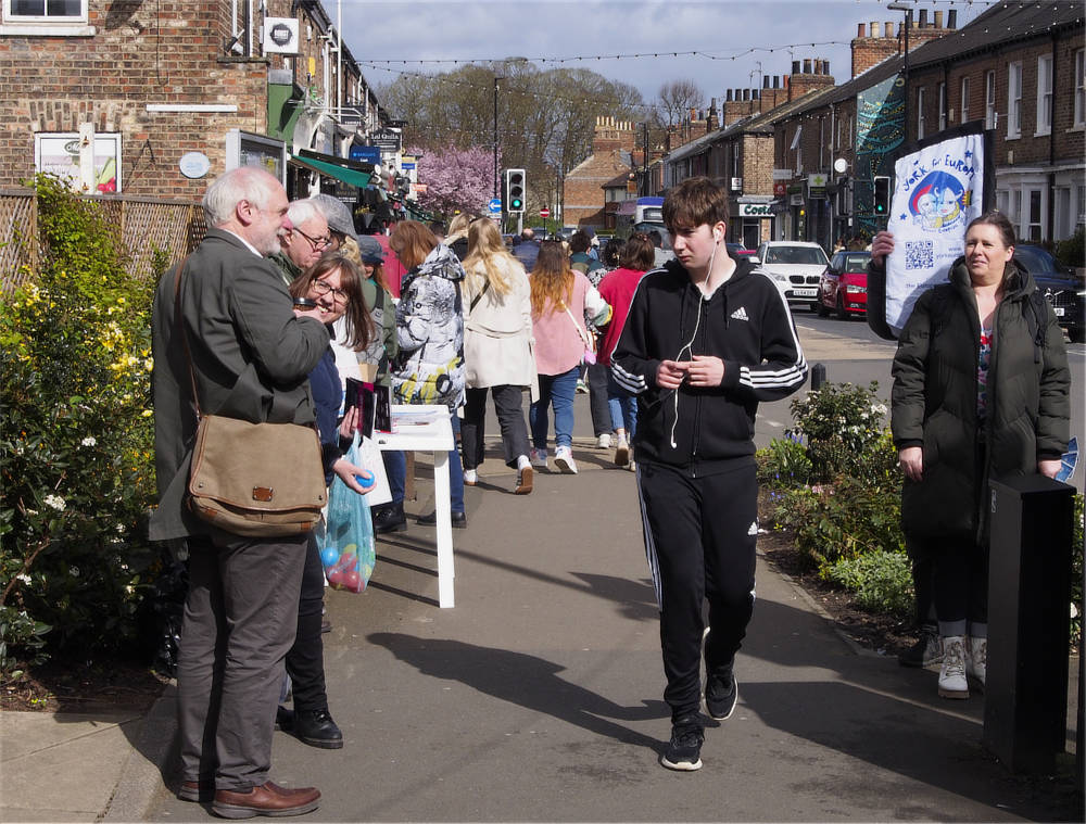
[[[596,735],[659,751],[657,739],[616,722],[667,718],[662,701],[619,706],[559,677],[564,667],[523,652],[400,633],[374,633],[366,639],[384,647],[424,675],[458,681],[485,695],[552,715]]]

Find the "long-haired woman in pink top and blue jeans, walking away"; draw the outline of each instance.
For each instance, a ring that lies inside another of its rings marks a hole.
[[[591,338],[584,317],[607,322],[610,307],[586,277],[569,268],[569,258],[558,241],[540,244],[531,274],[532,335],[535,338],[535,370],[539,401],[529,408],[532,429],[531,462],[546,467],[547,408],[554,407],[554,462],[558,471],[577,472],[573,461],[573,396],[579,367]]]

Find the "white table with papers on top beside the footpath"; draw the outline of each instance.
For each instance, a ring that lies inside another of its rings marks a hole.
[[[453,597],[453,523],[449,502],[449,453],[456,448],[447,406],[392,406],[392,432],[374,432],[381,451],[429,452],[433,455],[433,503],[438,531],[438,604],[455,606]]]

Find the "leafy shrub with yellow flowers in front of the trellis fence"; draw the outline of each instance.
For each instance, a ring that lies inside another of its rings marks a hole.
[[[153,283],[127,272],[97,203],[35,182],[46,254],[0,305],[2,671],[130,645],[156,563]]]

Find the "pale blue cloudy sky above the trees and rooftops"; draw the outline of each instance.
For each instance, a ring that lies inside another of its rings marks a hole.
[[[522,56],[540,68],[591,68],[634,86],[647,102],[662,83],[685,78],[707,98],[722,100],[725,89],[760,87],[763,74],[788,74],[793,60],[806,58],[829,60],[830,73],[844,83],[857,23],[893,21],[896,27],[904,20],[902,12],[886,9],[887,1],[324,0],[324,5],[334,21],[342,3],[344,40],[377,86],[402,72],[450,71],[452,61]],[[957,9],[961,27],[988,4],[918,0],[915,8],[927,9],[930,17],[935,10]]]

